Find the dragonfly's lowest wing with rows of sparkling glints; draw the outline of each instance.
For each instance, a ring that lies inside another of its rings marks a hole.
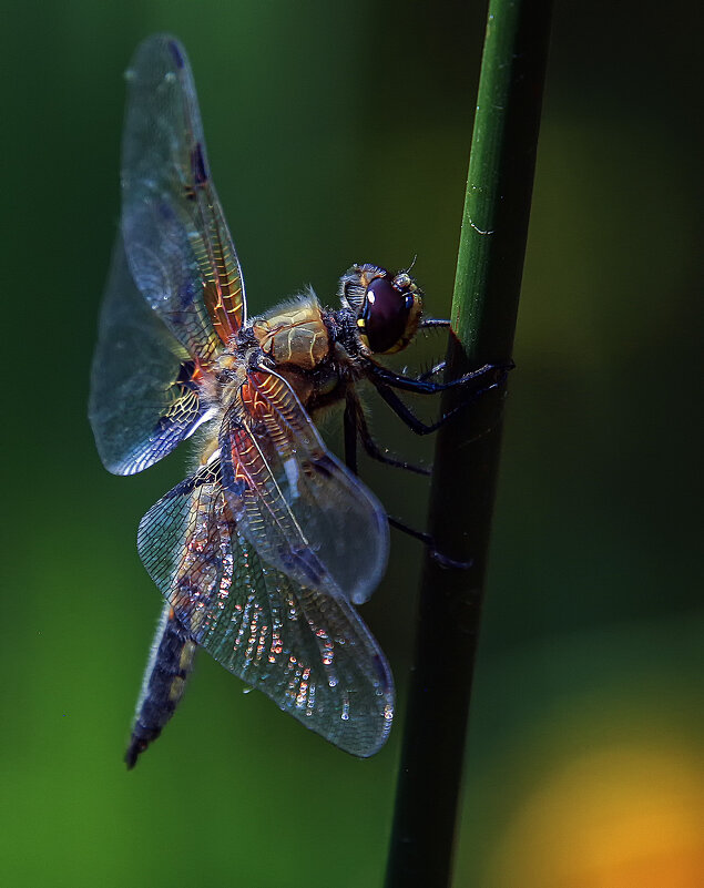
[[[217,460],[142,519],[137,548],[194,641],[306,727],[353,755],[385,743],[394,686],[344,599],[267,564],[239,532]]]

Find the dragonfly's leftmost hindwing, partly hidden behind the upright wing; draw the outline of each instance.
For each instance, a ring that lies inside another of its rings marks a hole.
[[[91,371],[89,418],[109,471],[134,474],[203,421],[196,365],[137,290],[118,235]]]

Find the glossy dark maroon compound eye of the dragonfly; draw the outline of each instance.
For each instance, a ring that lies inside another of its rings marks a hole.
[[[363,343],[378,355],[400,351],[414,338],[421,312],[420,290],[406,272],[376,277],[357,321]]]

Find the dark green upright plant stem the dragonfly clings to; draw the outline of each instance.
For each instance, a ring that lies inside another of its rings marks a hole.
[[[516,328],[550,0],[491,0],[462,218],[448,372],[508,363]],[[458,405],[448,391],[442,410]],[[451,880],[504,391],[480,395],[440,429],[429,530],[445,555],[424,565],[387,888]],[[500,705],[500,701],[498,702]]]

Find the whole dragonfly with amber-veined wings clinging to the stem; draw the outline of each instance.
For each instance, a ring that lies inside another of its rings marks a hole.
[[[115,474],[147,469],[188,438],[196,445],[188,477],[139,527],[139,554],[165,603],[126,764],[172,717],[198,647],[306,727],[368,757],[388,737],[395,694],[356,610],[389,550],[386,512],[357,477],[358,445],[416,467],[377,446],[359,385],[427,433],[447,417],[422,422],[399,391],[435,394],[494,368],[439,382],[442,364],[419,377],[385,367],[379,356],[448,321],[422,318],[408,271],[370,263],[341,276],[339,308],[308,288],[248,318],[184,48],[167,34],[147,38],[126,81],[122,213],[89,417]],[[343,407],[344,461],[315,425],[333,405]]]

